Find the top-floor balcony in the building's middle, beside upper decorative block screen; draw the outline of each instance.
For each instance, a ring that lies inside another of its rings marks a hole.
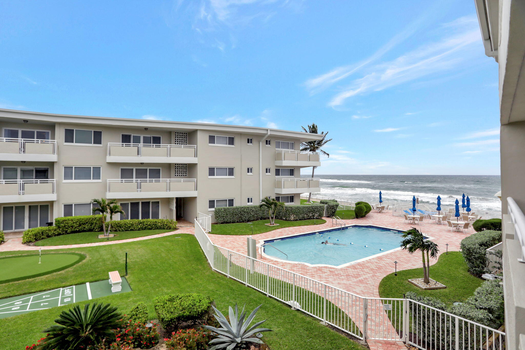
[[[110,142],[106,162],[197,163],[197,146]]]

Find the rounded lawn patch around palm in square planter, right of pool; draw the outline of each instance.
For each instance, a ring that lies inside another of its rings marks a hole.
[[[391,273],[379,284],[379,295],[381,298],[403,298],[403,293],[411,291],[424,296],[432,296],[451,305],[456,301],[465,301],[483,282],[468,273],[465,260],[458,251],[441,254],[437,263],[430,266],[430,278],[445,284],[447,288],[424,291],[407,281],[422,277],[423,268],[398,271],[397,276]]]

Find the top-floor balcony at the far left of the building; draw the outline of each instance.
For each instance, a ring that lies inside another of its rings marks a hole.
[[[57,141],[0,137],[0,161],[56,162]]]

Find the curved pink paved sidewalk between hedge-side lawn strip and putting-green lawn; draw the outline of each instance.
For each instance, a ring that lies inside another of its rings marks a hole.
[[[103,241],[103,242],[94,242],[94,243],[81,243],[78,245],[66,245],[66,246],[26,246],[22,244],[22,238],[10,238],[4,242],[4,244],[0,245],[0,251],[19,251],[19,250],[50,250],[50,249],[68,249],[68,248],[85,248],[85,247],[97,247],[97,246],[108,246],[108,245],[115,245],[119,243],[128,243],[128,242],[135,242],[135,241],[143,241],[146,239],[153,239],[153,238],[159,238],[159,237],[166,237],[171,235],[178,235],[178,234],[195,234],[195,228],[194,227],[181,227],[176,231],[171,232],[164,232],[163,234],[157,234],[157,235],[151,235],[151,236],[143,236],[143,237],[135,237],[135,238],[128,238],[128,239],[120,239],[115,241]]]

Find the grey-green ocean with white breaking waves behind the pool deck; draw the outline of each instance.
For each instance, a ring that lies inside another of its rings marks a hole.
[[[321,192],[315,195],[376,202],[379,191],[383,200],[395,202],[412,201],[437,205],[453,205],[461,195],[470,198],[470,206],[478,210],[501,211],[501,201],[494,195],[501,189],[499,175],[314,175],[321,178]],[[302,177],[308,177],[303,175]]]

